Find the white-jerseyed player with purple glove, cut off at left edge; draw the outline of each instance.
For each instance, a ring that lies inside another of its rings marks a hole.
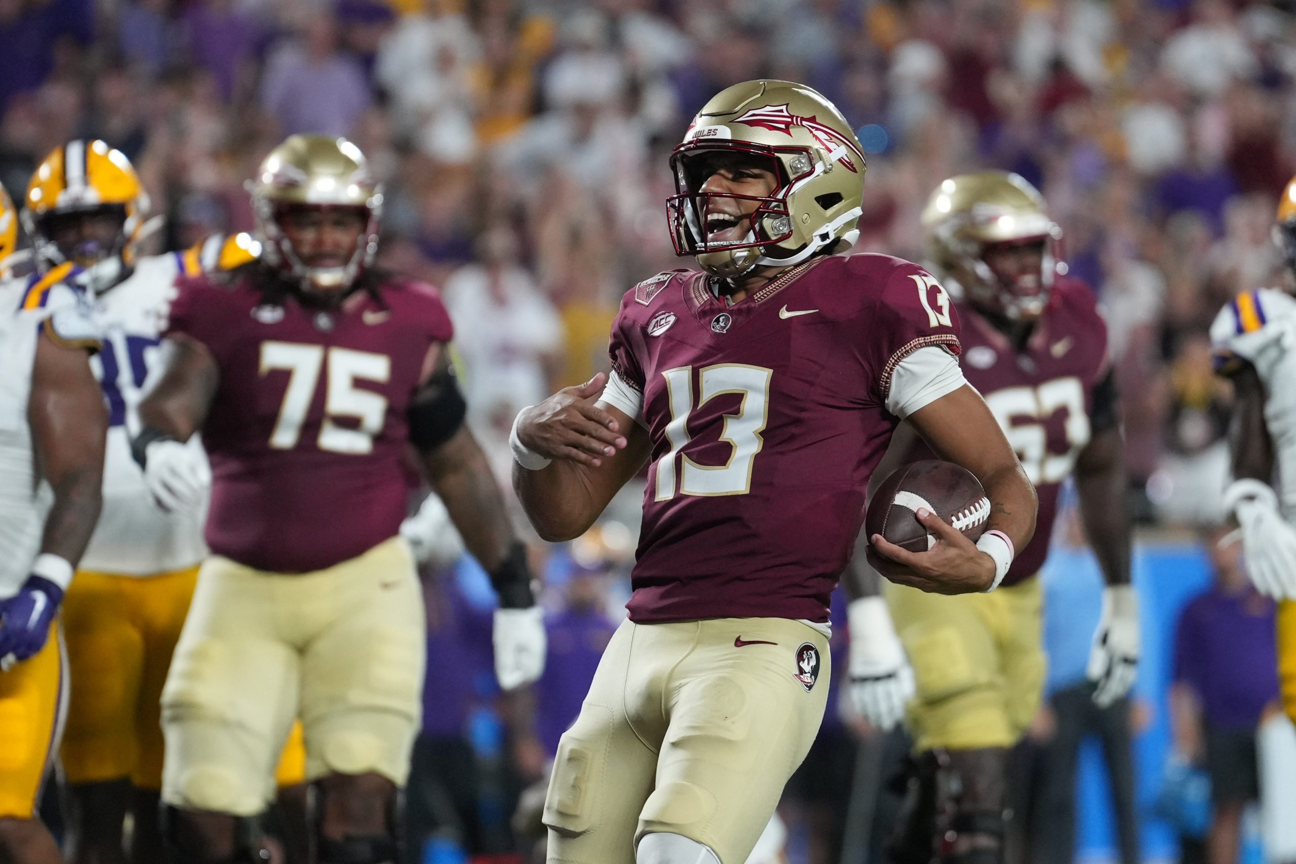
[[[25,290],[0,282],[0,860],[61,864],[36,804],[67,698],[57,614],[98,518],[108,412],[86,306],[16,313]]]

